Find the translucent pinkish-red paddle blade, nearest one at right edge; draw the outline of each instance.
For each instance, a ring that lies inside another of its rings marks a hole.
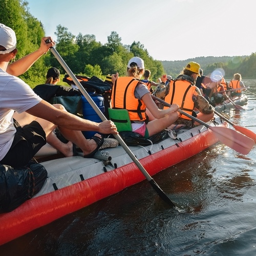
[[[252,139],[227,127],[209,126],[209,129],[223,144],[243,155],[247,155],[254,145]]]

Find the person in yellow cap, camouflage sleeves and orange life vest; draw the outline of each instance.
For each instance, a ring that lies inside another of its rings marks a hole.
[[[178,104],[180,109],[189,115],[207,122],[214,117],[214,107],[201,95],[199,88],[195,86],[196,79],[200,76],[200,65],[194,61],[187,63],[182,74],[167,84],[166,87],[158,86],[155,96],[165,100],[169,104]],[[165,109],[166,107],[164,107]],[[194,111],[196,109],[198,113]],[[185,124],[188,127],[199,125],[193,119],[181,115],[175,124]]]

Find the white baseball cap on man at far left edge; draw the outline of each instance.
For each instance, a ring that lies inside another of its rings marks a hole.
[[[10,53],[16,49],[16,44],[17,40],[15,32],[11,28],[0,23],[0,46],[3,46],[6,49],[5,51],[0,51],[0,54]]]

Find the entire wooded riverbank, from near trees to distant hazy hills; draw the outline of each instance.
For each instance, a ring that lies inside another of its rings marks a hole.
[[[29,12],[28,2],[22,0],[0,1],[0,23],[11,27],[16,32],[18,54],[16,59],[29,54],[39,48],[41,38],[45,36],[44,24],[33,17]],[[126,73],[126,63],[133,56],[141,57],[145,68],[151,70],[151,79],[156,81],[163,74],[176,77],[188,61],[200,63],[204,75],[215,69],[223,69],[225,77],[232,78],[234,73],[240,73],[242,78],[256,78],[256,53],[250,56],[223,56],[223,57],[197,57],[179,61],[160,61],[148,53],[140,41],[133,41],[131,45],[123,45],[122,38],[112,31],[106,44],[96,40],[95,35],[73,35],[67,28],[56,27],[56,50],[66,61],[75,75],[97,76],[104,79],[108,74]],[[65,71],[49,51],[39,58],[34,65],[20,78],[32,88],[36,84],[44,83],[47,70],[56,67]],[[66,84],[67,85],[67,84]]]

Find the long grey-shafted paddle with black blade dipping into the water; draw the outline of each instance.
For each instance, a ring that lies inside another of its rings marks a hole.
[[[49,40],[49,39],[48,39]],[[46,40],[46,43],[48,44],[50,40]],[[83,96],[87,99],[87,101],[91,104],[94,111],[98,114],[98,116],[101,118],[102,121],[108,120],[103,115],[103,113],[100,111],[98,106],[95,104],[95,102],[92,100],[90,95],[87,93],[87,91],[81,86],[81,83],[78,81],[76,76],[73,74],[73,72],[70,70],[66,62],[61,58],[57,50],[53,47],[50,48],[53,55],[56,57],[56,59],[59,61],[60,65],[63,69],[68,73],[68,75],[72,78],[76,86],[79,88]],[[152,187],[157,191],[158,195],[170,206],[175,206],[175,204],[167,197],[167,195],[163,192],[163,190],[158,186],[158,184],[153,180],[153,178],[146,172],[145,168],[142,166],[142,164],[138,161],[138,159],[135,157],[135,155],[132,153],[130,148],[124,143],[120,135],[114,135],[115,138],[118,140],[120,145],[123,147],[125,152],[131,157],[131,159],[134,161],[134,163],[137,165],[137,167],[140,169],[141,173],[145,176],[147,181],[152,185]]]

